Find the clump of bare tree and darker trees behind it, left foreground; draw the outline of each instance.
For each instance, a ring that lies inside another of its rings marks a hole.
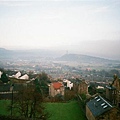
[[[36,77],[33,84],[23,86],[14,95],[11,105],[12,116],[18,115],[25,120],[46,120],[49,117],[43,104],[46,86],[48,87],[47,80],[47,74],[41,73]]]

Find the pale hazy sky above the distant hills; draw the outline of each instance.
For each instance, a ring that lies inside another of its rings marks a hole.
[[[1,1],[0,47],[62,48],[119,58],[120,0]]]

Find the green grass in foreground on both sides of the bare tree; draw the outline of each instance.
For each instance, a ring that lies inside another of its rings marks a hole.
[[[0,115],[8,116],[10,100],[0,100]],[[77,101],[67,103],[45,103],[45,108],[50,115],[48,120],[86,120]]]

